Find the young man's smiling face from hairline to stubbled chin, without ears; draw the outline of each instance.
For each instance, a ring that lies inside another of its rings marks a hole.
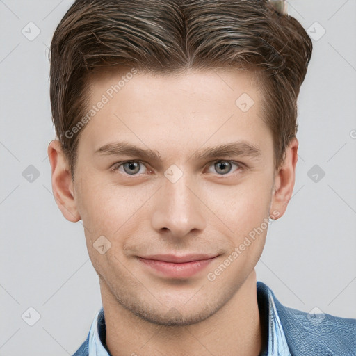
[[[282,214],[272,134],[248,72],[127,72],[92,78],[75,209],[102,293],[152,323],[197,323],[234,298]]]

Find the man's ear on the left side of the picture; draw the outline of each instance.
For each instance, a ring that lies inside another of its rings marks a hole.
[[[59,140],[52,140],[48,145],[49,162],[52,168],[52,191],[54,200],[63,216],[73,223],[81,220],[74,199],[72,175],[67,159],[63,154]]]

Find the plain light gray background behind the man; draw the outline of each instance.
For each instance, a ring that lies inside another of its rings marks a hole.
[[[48,51],[71,4],[0,0],[1,356],[72,355],[102,305],[83,226],[56,206],[47,157]],[[257,280],[289,307],[356,318],[356,1],[291,0],[288,12],[310,29],[314,54],[298,99],[294,195],[270,226]]]

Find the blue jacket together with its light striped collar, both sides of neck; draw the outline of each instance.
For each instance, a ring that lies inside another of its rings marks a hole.
[[[268,340],[261,356],[356,356],[356,319],[284,307],[263,282],[257,282],[257,301]],[[73,356],[112,356],[105,334],[100,309],[86,341]]]

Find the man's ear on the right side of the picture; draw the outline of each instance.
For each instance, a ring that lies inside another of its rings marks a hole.
[[[297,161],[298,140],[293,138],[288,147],[286,147],[284,162],[275,172],[275,186],[270,204],[270,216],[273,216],[274,219],[278,219],[284,215],[289,200],[291,200],[296,180]]]

